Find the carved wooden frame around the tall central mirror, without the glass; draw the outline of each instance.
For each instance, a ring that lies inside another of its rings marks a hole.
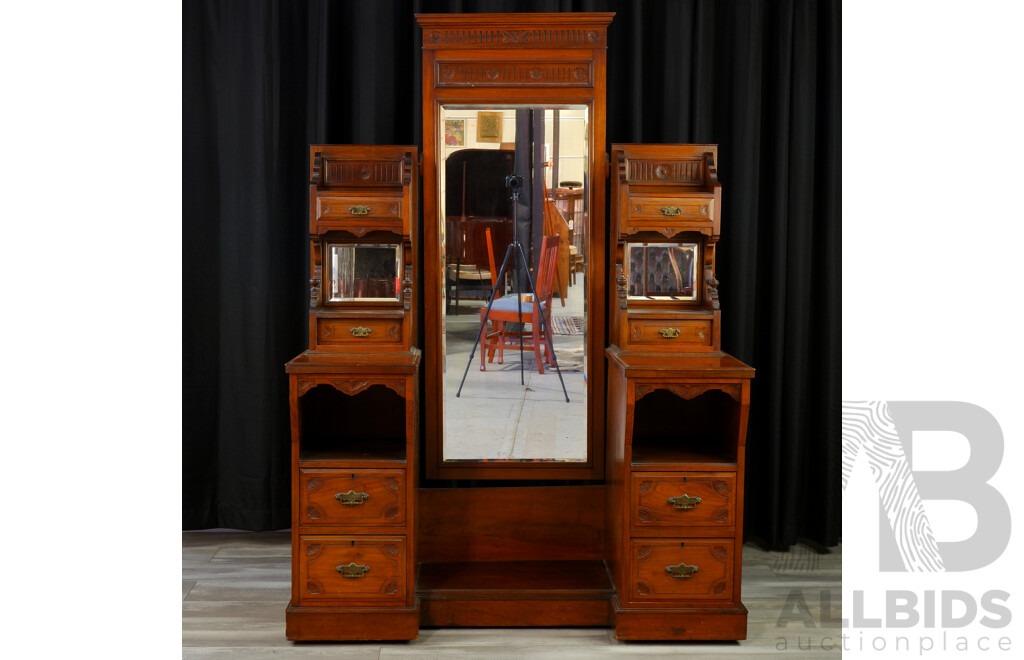
[[[603,479],[607,301],[605,138],[607,28],[613,13],[416,14],[423,29],[423,255],[425,469],[428,479]],[[587,459],[443,457],[437,181],[441,105],[587,105],[590,229],[587,285]]]

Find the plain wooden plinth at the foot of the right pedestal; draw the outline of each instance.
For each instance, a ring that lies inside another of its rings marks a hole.
[[[746,608],[648,610],[620,607],[611,600],[616,640],[745,640]]]

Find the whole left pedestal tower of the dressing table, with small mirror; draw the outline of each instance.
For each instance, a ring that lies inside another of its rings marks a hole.
[[[417,149],[310,147],[309,350],[290,361],[290,640],[409,640],[416,601]]]

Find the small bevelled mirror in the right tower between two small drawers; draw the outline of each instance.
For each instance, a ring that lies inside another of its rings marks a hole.
[[[695,243],[626,244],[629,298],[696,300]]]

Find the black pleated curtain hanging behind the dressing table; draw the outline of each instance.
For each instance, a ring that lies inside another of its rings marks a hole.
[[[719,144],[722,346],[758,370],[746,537],[836,544],[838,0],[186,1],[183,528],[289,527],[307,145],[421,143],[413,14],[483,11],[616,12],[609,143]]]

